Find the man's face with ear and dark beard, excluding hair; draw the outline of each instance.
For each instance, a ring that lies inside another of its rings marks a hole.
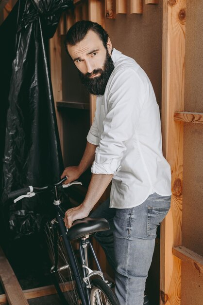
[[[68,45],[68,52],[79,70],[82,82],[93,95],[104,94],[108,79],[114,70],[111,50],[110,39],[105,48],[99,36],[91,30],[76,45]]]

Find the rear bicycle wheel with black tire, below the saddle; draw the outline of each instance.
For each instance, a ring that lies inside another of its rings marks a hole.
[[[119,305],[116,295],[102,279],[94,278],[90,281],[90,284],[91,305]]]

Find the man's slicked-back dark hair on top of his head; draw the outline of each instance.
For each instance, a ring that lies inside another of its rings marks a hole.
[[[99,36],[106,49],[106,44],[109,37],[108,34],[100,24],[98,24],[97,22],[92,22],[87,20],[76,22],[68,30],[65,40],[66,49],[68,44],[76,45],[78,42],[83,40],[89,30],[93,31]]]

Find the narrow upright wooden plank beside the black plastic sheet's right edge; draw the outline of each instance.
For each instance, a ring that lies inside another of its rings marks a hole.
[[[62,63],[61,63],[61,37],[59,29],[56,30],[53,38],[50,39],[50,65],[51,65],[51,83],[53,89],[53,98],[55,104],[56,118],[58,124],[59,138],[61,144],[62,156],[64,155],[63,145],[63,120],[60,112],[57,111],[56,101],[62,101]]]

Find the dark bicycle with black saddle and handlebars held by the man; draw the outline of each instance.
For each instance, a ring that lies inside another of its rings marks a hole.
[[[63,184],[67,177],[53,186],[27,187],[8,194],[8,198],[16,198],[14,202],[24,197],[33,197],[35,194],[51,191],[54,194],[53,205],[56,217],[45,225],[45,233],[51,260],[51,275],[56,291],[64,305],[119,305],[117,297],[111,290],[111,283],[104,279],[99,261],[96,257],[89,235],[97,231],[108,230],[108,221],[104,218],[89,218],[74,221],[67,229],[64,224],[65,211],[61,205],[59,191],[73,184],[82,184],[74,181]],[[80,260],[77,262],[71,241],[80,239]],[[97,270],[89,267],[88,250],[92,253]]]

